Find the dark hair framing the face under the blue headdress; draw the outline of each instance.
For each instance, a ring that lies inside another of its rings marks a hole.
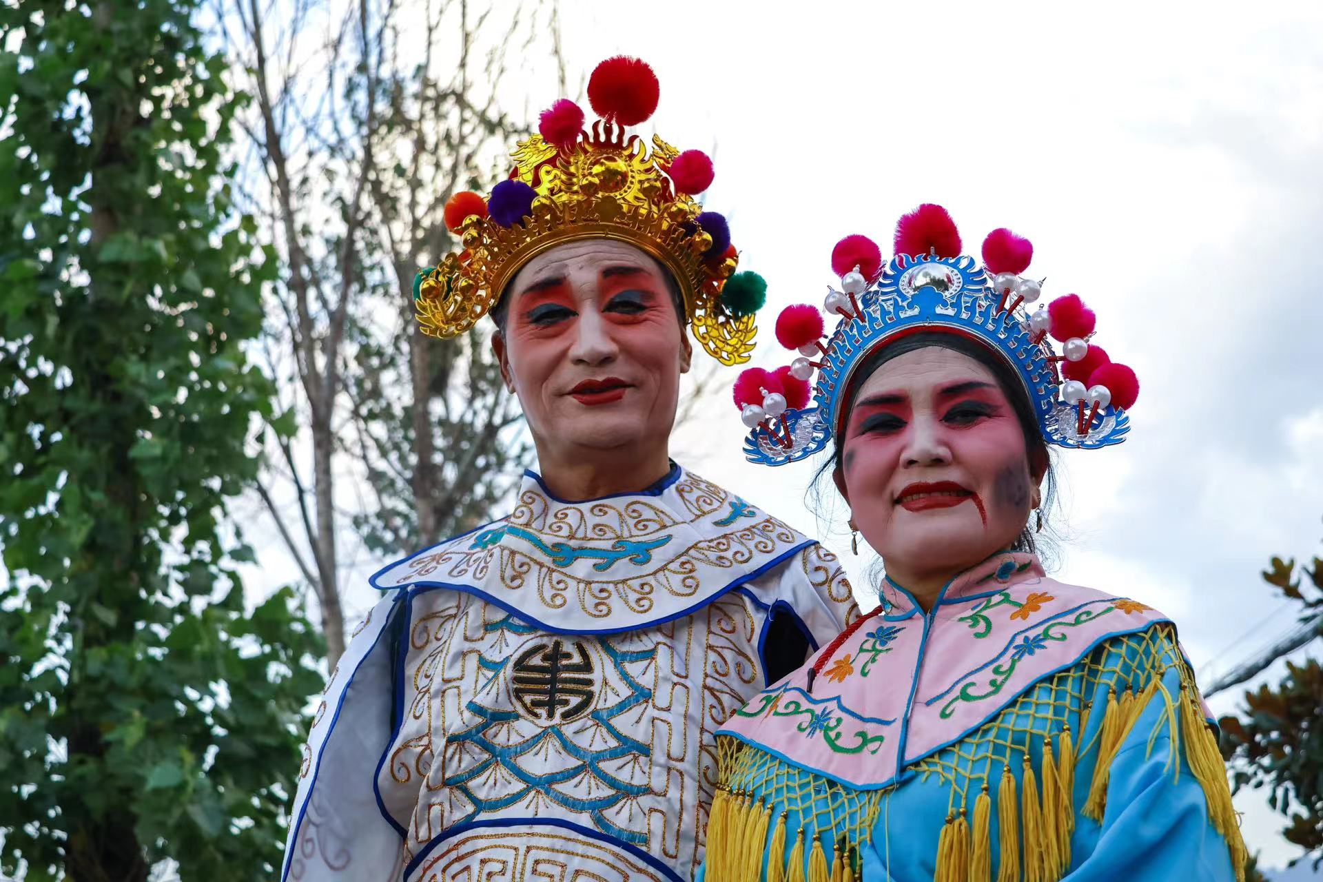
[[[1031,471],[1043,468],[1044,488],[1043,500],[1039,504],[1039,514],[1044,516],[1056,501],[1057,493],[1057,479],[1052,465],[1052,454],[1048,450],[1048,443],[1043,440],[1043,431],[1039,428],[1039,421],[1033,417],[1029,397],[1024,390],[1024,382],[1003,358],[998,357],[992,350],[980,342],[954,333],[925,331],[908,337],[901,337],[896,342],[881,346],[876,352],[871,353],[855,370],[853,377],[851,377],[851,387],[847,391],[851,393],[852,398],[843,403],[841,415],[844,417],[848,414],[855,406],[853,395],[857,394],[859,389],[864,385],[864,381],[872,377],[878,368],[893,358],[898,358],[900,356],[918,349],[927,349],[929,346],[950,349],[951,352],[958,352],[962,356],[968,356],[992,372],[992,377],[996,378],[996,383],[1000,386],[1002,393],[1015,409],[1016,419],[1020,423],[1020,431],[1024,432],[1024,450],[1029,458]],[[841,424],[845,422],[845,419],[840,421]],[[820,484],[824,476],[841,467],[843,452],[844,439],[837,439],[835,448],[832,450],[831,459],[823,463],[822,468],[818,469],[818,475],[814,477],[815,485]],[[1044,524],[1046,525],[1045,517]],[[1046,529],[1046,526],[1044,529]],[[1025,525],[1024,530],[1020,532],[1020,537],[1011,547],[1015,551],[1029,551],[1036,554],[1040,551],[1040,541],[1036,538],[1035,530]]]

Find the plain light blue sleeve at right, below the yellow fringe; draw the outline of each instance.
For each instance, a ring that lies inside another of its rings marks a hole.
[[[1170,696],[1180,694],[1180,673],[1168,669],[1163,685]],[[1209,821],[1204,791],[1184,751],[1172,750],[1166,714],[1159,693],[1130,730],[1111,763],[1102,825],[1080,817],[1074,866],[1064,882],[1236,879],[1226,841]]]

